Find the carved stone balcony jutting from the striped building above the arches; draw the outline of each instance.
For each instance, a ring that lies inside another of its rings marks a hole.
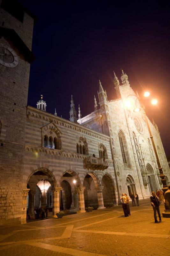
[[[84,159],[86,169],[90,170],[105,170],[108,168],[108,161],[103,161],[103,158],[97,158],[93,156],[86,157]]]

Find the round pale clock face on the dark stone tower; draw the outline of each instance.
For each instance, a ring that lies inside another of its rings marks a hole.
[[[9,68],[14,68],[18,65],[16,52],[5,44],[0,44],[0,64]]]

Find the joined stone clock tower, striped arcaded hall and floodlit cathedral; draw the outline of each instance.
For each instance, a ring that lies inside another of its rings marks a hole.
[[[151,133],[168,183],[158,127],[123,70],[121,83],[113,74],[117,99],[107,100],[99,81],[94,111],[85,117],[79,107],[77,118],[72,96],[70,120],[48,113],[42,95],[37,108],[26,107],[34,17],[6,2],[0,1],[0,224],[25,223],[40,207],[55,217],[119,204],[122,193],[148,198],[162,187]]]

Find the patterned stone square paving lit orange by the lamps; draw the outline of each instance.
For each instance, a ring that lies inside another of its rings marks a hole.
[[[149,199],[139,203],[127,218],[115,206],[0,227],[0,255],[170,256],[170,219],[154,223]]]

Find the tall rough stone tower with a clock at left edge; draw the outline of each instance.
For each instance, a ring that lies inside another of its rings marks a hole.
[[[21,220],[23,153],[34,17],[0,0],[0,224]]]

